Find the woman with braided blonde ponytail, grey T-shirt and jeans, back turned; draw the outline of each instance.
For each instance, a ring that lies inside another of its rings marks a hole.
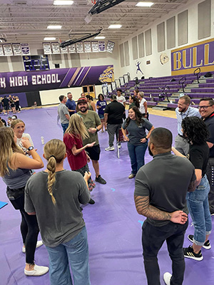
[[[66,145],[50,140],[44,146],[46,170],[33,175],[26,184],[25,210],[36,214],[41,237],[49,252],[51,285],[90,285],[88,241],[80,203],[90,200],[88,178],[64,170]]]

